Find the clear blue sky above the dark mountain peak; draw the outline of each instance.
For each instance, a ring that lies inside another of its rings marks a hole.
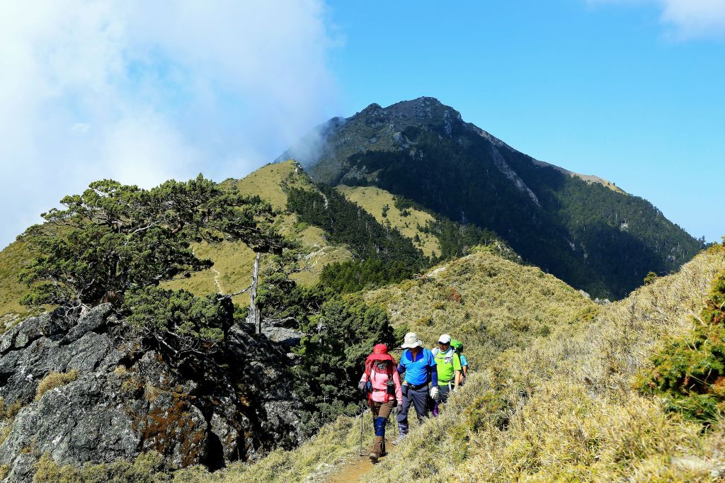
[[[434,96],[526,154],[650,200],[693,236],[725,235],[725,28],[683,36],[647,2],[330,8],[346,112]]]

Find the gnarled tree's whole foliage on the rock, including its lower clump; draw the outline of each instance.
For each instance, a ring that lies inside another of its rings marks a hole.
[[[40,253],[20,278],[22,303],[67,311],[112,302],[149,342],[175,360],[215,352],[233,323],[228,296],[197,297],[159,283],[209,267],[192,242],[241,240],[257,252],[281,253],[274,212],[259,197],[221,189],[202,175],[153,189],[104,180],[61,200],[65,210],[24,236]]]

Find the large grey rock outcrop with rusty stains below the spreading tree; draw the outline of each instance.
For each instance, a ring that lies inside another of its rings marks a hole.
[[[103,463],[157,450],[178,466],[220,468],[297,445],[299,403],[285,351],[233,326],[225,347],[175,367],[144,347],[111,306],[80,318],[28,318],[0,338],[0,396],[21,405],[5,422],[7,481],[31,481],[44,453],[57,463]],[[51,372],[78,372],[38,400]]]

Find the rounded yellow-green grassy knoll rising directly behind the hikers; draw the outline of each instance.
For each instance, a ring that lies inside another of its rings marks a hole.
[[[405,324],[428,347],[443,333],[460,339],[474,369],[598,310],[558,278],[486,250],[438,265],[415,281],[368,292],[365,299],[386,305],[392,323]]]

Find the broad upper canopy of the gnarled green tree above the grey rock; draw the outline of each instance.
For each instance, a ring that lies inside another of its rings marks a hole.
[[[65,209],[43,213],[46,224],[24,235],[41,253],[20,274],[32,288],[26,305],[123,300],[128,289],[210,266],[194,255],[192,241],[240,239],[257,252],[286,247],[268,203],[202,175],[150,190],[96,181],[61,204]]]

